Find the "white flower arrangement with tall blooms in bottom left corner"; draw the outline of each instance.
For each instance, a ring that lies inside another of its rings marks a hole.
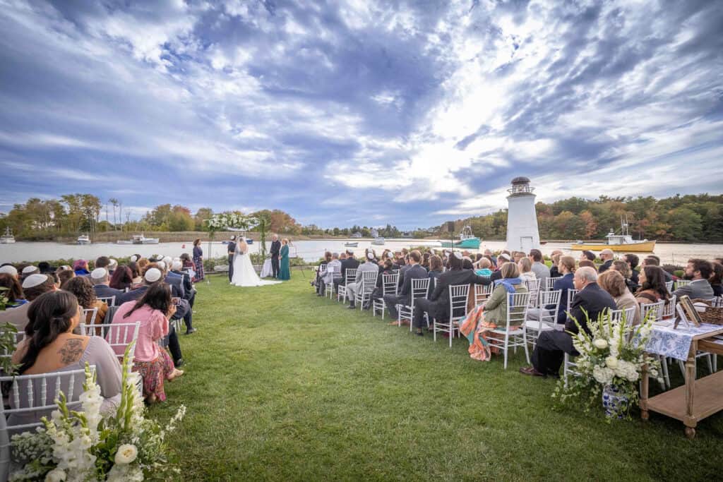
[[[100,387],[86,363],[82,411],[69,410],[60,392],[51,420],[43,417],[44,426],[35,432],[14,435],[14,459],[25,465],[10,475],[10,481],[142,481],[146,475],[170,469],[166,434],[174,431],[186,408],[181,405],[165,428],[145,418],[137,374],[130,373],[130,347],[123,358],[121,402],[116,412],[105,416],[100,412]]]

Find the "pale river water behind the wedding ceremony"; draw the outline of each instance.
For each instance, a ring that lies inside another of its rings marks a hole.
[[[356,248],[346,248],[345,243],[359,243]],[[267,242],[267,249],[270,241]],[[341,252],[345,249],[352,249],[357,256],[364,254],[364,249],[369,246],[376,251],[381,252],[383,249],[399,250],[410,246],[431,246],[440,247],[440,241],[416,240],[416,239],[387,239],[384,246],[372,246],[371,240],[363,239],[315,239],[312,241],[292,241],[291,256],[300,257],[307,261],[316,261],[323,256],[324,251]],[[39,262],[50,259],[95,259],[99,256],[110,257],[128,257],[131,254],[141,254],[144,257],[162,254],[164,256],[177,257],[181,253],[192,252],[192,243],[162,243],[162,244],[111,244],[99,243],[80,246],[77,244],[61,244],[61,243],[15,243],[0,244],[0,263],[2,262]],[[260,244],[254,242],[250,245],[252,252],[260,250]],[[215,241],[211,244],[205,242],[202,244],[205,257],[221,257],[226,255],[226,245],[221,241]],[[484,241],[480,246],[481,250],[491,249],[492,251],[505,249],[505,241]],[[548,243],[542,246],[543,254],[549,254],[555,249],[561,249],[565,253],[572,253],[576,258],[579,257],[580,251],[570,251],[569,243]],[[471,250],[474,251],[474,250]],[[618,253],[620,256],[622,253]],[[684,265],[689,258],[712,259],[714,257],[723,256],[723,244],[656,244],[655,254],[662,259],[664,263]],[[643,257],[643,253],[638,253]]]

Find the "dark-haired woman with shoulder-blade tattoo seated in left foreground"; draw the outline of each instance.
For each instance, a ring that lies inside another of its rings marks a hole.
[[[96,383],[103,397],[102,411],[114,410],[120,401],[121,365],[111,346],[100,337],[74,335],[73,330],[80,324],[82,312],[77,299],[67,291],[49,291],[35,298],[27,311],[29,322],[25,327],[25,339],[17,345],[12,363],[20,365],[21,375],[54,373],[85,368],[85,363],[95,365]],[[83,392],[85,377],[76,376],[74,397]],[[40,380],[35,384],[35,393],[41,393]],[[64,387],[67,392],[67,387]],[[55,384],[48,384],[43,405],[52,405],[56,397]],[[11,397],[12,408],[14,401]],[[38,401],[35,402],[36,404]],[[25,384],[20,390],[20,407],[28,405]],[[30,410],[21,415],[13,414],[10,423],[35,423],[43,416],[41,410]]]

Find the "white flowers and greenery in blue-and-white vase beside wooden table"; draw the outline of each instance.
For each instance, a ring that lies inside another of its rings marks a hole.
[[[586,411],[591,406],[602,403],[602,390],[606,386],[616,387],[617,394],[627,399],[628,403],[620,405],[615,416],[630,418],[630,408],[639,400],[638,382],[641,380],[643,364],[648,364],[648,373],[659,379],[659,362],[645,358],[645,346],[653,329],[651,317],[646,317],[638,326],[630,326],[625,315],[614,320],[609,312],[601,314],[598,319],[587,319],[588,334],[578,326],[578,333],[570,332],[573,346],[580,353],[575,359],[576,374],[570,376],[568,386],[560,379],[552,394],[560,404],[572,400],[586,402]],[[610,418],[609,418],[610,419]]]

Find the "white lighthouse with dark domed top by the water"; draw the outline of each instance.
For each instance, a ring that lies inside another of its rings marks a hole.
[[[507,197],[507,249],[510,251],[527,254],[530,249],[540,247],[534,190],[526,177],[514,178],[512,188],[507,190],[510,193]]]

